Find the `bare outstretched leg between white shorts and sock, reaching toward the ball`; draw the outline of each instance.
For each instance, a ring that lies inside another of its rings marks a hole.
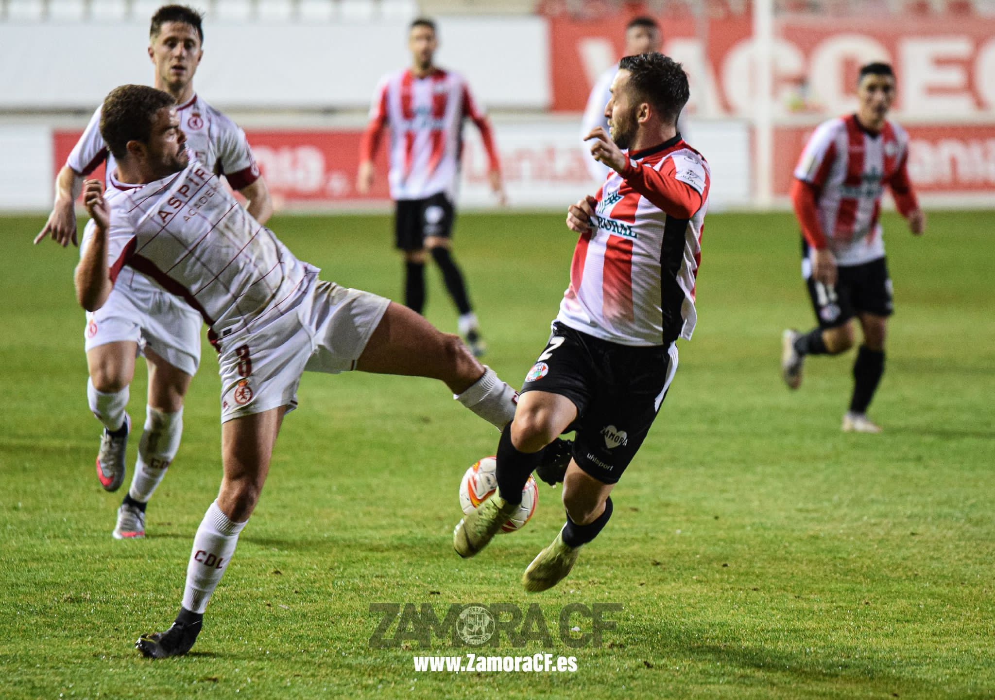
[[[456,393],[465,391],[484,374],[484,365],[458,336],[442,333],[421,315],[393,302],[369,336],[355,368],[377,374],[441,379]]]

